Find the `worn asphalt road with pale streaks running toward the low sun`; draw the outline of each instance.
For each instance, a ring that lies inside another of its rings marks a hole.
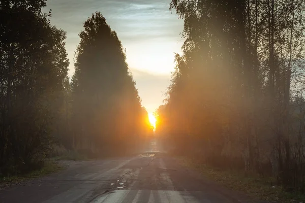
[[[69,168],[0,191],[3,203],[163,203],[252,202],[206,180],[157,150],[134,157],[69,161]]]

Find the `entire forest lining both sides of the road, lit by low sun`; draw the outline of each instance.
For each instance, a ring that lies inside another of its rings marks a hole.
[[[69,61],[46,2],[0,2],[0,177],[41,168],[58,149],[136,152],[153,134],[105,17],[84,19]],[[184,44],[156,111],[163,147],[304,193],[305,0],[172,0],[169,9],[184,21]]]

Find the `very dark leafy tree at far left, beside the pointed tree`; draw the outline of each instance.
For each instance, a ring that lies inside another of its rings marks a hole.
[[[40,166],[50,150],[58,92],[69,61],[66,33],[41,13],[45,1],[3,1],[0,27],[0,174]]]

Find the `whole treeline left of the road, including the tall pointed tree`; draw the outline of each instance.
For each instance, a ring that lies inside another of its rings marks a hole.
[[[69,79],[66,32],[45,6],[0,3],[0,176],[41,167],[54,146],[121,154],[151,132],[124,48],[101,13],[84,23]]]

